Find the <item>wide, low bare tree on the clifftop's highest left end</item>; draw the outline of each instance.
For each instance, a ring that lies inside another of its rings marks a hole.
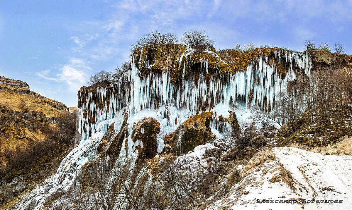
[[[144,46],[157,47],[158,45],[177,44],[177,37],[174,34],[163,33],[160,31],[149,32],[145,37],[137,41],[130,49],[131,53]]]

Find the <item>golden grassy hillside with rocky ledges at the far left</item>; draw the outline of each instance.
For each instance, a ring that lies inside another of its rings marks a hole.
[[[43,140],[43,125],[54,126],[52,118],[67,111],[64,104],[30,91],[27,83],[0,77],[0,153]]]

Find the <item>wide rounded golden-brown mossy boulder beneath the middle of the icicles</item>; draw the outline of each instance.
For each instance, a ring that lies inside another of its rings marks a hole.
[[[198,145],[212,142],[216,138],[209,128],[212,116],[213,112],[202,112],[183,122],[172,139],[172,153],[185,154]]]

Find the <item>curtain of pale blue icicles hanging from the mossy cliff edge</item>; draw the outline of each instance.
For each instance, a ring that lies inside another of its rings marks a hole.
[[[237,109],[254,106],[271,110],[275,104],[275,94],[286,88],[283,85],[285,82],[295,78],[293,68],[298,67],[309,75],[312,64],[312,59],[306,53],[280,53],[282,52],[275,53],[277,63],[280,64],[284,58],[285,63],[290,64],[285,78],[280,77],[275,65],[269,65],[268,57],[262,55],[254,59],[245,72],[229,73],[222,78],[217,73],[205,77],[208,72],[208,64],[205,61],[201,65],[199,78],[195,78],[195,73],[190,69],[190,77],[186,79],[183,73],[182,81],[177,85],[170,82],[171,71],[162,72],[161,75],[150,71],[144,78],[140,78],[132,61],[132,70],[128,71],[122,83],[112,84],[108,88],[96,88],[88,93],[85,100],[80,100],[81,112],[87,113],[86,117],[81,114],[79,119],[82,139],[87,139],[99,122],[113,118],[121,109],[126,109],[129,118],[140,112],[155,112],[157,120],[162,121],[159,123],[164,128],[161,138],[175,131],[177,126],[190,116],[201,112],[201,107],[204,106],[207,111],[217,112],[217,117],[228,117],[226,107],[235,112]],[[187,55],[181,55],[178,62],[183,56]],[[239,102],[243,107],[238,107]],[[217,105],[225,106],[225,110],[214,110]],[[95,123],[89,122],[90,115],[95,117]],[[231,129],[231,126],[221,127]],[[227,132],[228,129],[221,129],[219,133]]]

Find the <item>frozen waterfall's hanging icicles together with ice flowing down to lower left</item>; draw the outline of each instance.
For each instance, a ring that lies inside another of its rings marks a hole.
[[[132,61],[132,70],[122,82],[109,87],[98,87],[89,93],[79,92],[79,144],[63,159],[55,176],[51,178],[51,191],[55,192],[61,188],[69,190],[76,177],[82,173],[82,166],[92,157],[98,157],[96,148],[108,126],[114,123],[114,130],[118,132],[124,122],[125,113],[128,117],[127,144],[124,140],[116,164],[122,161],[123,158],[120,157],[136,157],[138,151],[134,148],[141,145],[141,142],[132,141],[132,130],[134,123],[143,118],[151,117],[160,123],[160,133],[157,135],[157,152],[160,153],[164,147],[165,134],[174,132],[182,122],[199,112],[213,112],[209,127],[215,136],[220,137],[232,130],[229,123],[219,120],[220,116],[229,117],[228,111],[234,111],[241,122],[245,120],[244,113],[250,110],[250,107],[272,109],[275,105],[275,94],[286,88],[287,81],[295,78],[293,69],[298,67],[309,75],[312,64],[312,59],[305,53],[280,53],[277,51],[275,55],[277,63],[290,64],[284,78],[282,74],[279,76],[280,72],[275,66],[268,65],[268,57],[265,56],[254,59],[245,72],[228,74],[221,78],[217,73],[208,74],[208,64],[204,61],[199,74],[195,74],[190,68],[190,76],[187,79],[183,77],[177,85],[170,83],[170,71],[162,72],[161,75],[150,71],[141,78]],[[179,63],[183,56],[189,55],[182,55],[181,59],[178,59]],[[195,78],[195,75],[199,75],[198,78]],[[111,179],[115,180],[114,177]],[[149,180],[148,183],[150,182]],[[79,183],[77,184],[79,186]],[[42,189],[38,186],[38,197],[33,198],[36,210],[45,202],[46,195],[41,192]]]

